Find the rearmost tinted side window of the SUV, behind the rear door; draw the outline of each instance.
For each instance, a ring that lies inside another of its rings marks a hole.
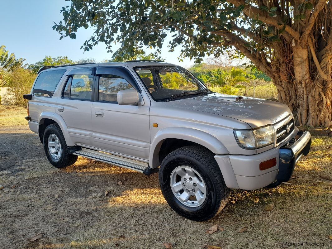
[[[34,86],[35,96],[52,97],[56,86],[66,69],[41,72]]]

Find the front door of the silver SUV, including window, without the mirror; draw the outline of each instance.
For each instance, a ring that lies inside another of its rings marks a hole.
[[[117,102],[120,90],[140,91],[133,76],[123,67],[102,68],[97,74],[96,83],[96,101],[92,104],[91,115],[94,147],[148,160],[150,102],[145,100],[142,106],[119,105]]]

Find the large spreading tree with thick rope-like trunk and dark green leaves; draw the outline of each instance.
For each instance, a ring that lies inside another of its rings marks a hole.
[[[130,56],[143,46],[159,52],[168,36],[170,51],[182,44],[181,56],[200,62],[235,47],[273,80],[296,124],[332,125],[331,0],[71,2],[53,29],[75,39],[80,27],[96,27],[85,51],[121,42]]]

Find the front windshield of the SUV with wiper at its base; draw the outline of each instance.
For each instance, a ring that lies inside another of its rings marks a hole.
[[[186,69],[177,66],[136,67],[155,100],[170,101],[181,97],[210,92],[207,87]]]

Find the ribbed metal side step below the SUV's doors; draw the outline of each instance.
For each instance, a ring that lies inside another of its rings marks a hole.
[[[156,173],[159,170],[159,168],[156,168],[156,169],[150,168],[149,164],[147,164],[147,163],[139,162],[136,160],[132,160],[132,159],[128,159],[128,158],[124,158],[124,157],[120,157],[120,156],[115,156],[115,155],[100,152],[97,150],[91,150],[91,149],[87,149],[87,148],[81,148],[81,150],[77,150],[77,147],[76,147],[73,150],[69,149],[69,151],[73,155],[83,156],[83,157],[97,160],[100,162],[114,164],[114,165],[117,165],[117,166],[120,166],[123,168],[132,169],[132,170],[141,172],[145,175],[150,175],[152,173]]]

